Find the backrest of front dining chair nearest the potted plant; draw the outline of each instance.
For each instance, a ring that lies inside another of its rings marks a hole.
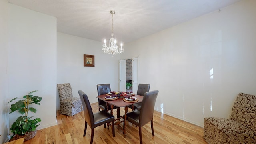
[[[94,128],[94,116],[93,116],[92,107],[90,105],[88,96],[82,90],[79,90],[78,94],[80,96],[80,99],[84,107],[84,119],[88,123],[90,128]]]

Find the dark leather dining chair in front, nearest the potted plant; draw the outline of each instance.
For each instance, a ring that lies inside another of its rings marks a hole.
[[[114,128],[114,116],[108,113],[106,110],[102,110],[96,113],[92,112],[92,107],[90,105],[88,96],[82,91],[78,91],[80,99],[82,101],[83,107],[84,107],[84,119],[85,119],[85,126],[84,126],[84,135],[86,135],[86,129],[87,129],[87,124],[91,128],[91,141],[90,144],[93,142],[93,136],[94,136],[94,128],[97,126],[100,126],[102,124],[106,123],[112,123],[111,128],[112,128],[112,134],[113,137],[115,137],[115,128]]]

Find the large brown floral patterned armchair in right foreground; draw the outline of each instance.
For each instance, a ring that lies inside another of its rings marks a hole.
[[[256,96],[238,94],[230,119],[204,118],[208,144],[256,144]]]

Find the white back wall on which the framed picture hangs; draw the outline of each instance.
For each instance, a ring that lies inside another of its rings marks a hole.
[[[98,102],[97,84],[110,83],[118,90],[119,59],[102,52],[102,42],[57,33],[57,83],[70,83],[74,97],[83,90],[90,103]],[[84,67],[84,54],[94,55],[95,67]],[[57,110],[60,109],[57,92]]]

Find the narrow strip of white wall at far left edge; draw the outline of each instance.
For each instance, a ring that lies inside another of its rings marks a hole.
[[[8,117],[8,2],[0,0],[0,144],[7,140]]]

